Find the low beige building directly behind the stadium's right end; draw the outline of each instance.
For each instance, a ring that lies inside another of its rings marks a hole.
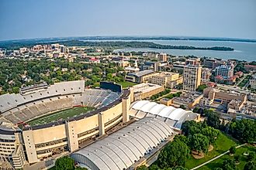
[[[133,86],[133,100],[143,100],[164,91],[164,87],[153,83],[140,83]]]

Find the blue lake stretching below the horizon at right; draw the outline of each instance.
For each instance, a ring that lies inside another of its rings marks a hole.
[[[106,40],[108,41],[108,40]],[[123,41],[123,40],[120,40]],[[230,46],[234,51],[214,51],[197,49],[115,49],[114,52],[132,52],[132,51],[154,51],[157,53],[168,53],[175,56],[208,56],[220,59],[239,59],[246,61],[256,61],[256,43],[255,42],[227,42],[227,41],[200,41],[200,40],[140,40],[144,42],[154,42],[162,45],[172,46]]]

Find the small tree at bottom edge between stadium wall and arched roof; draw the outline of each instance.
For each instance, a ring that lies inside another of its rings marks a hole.
[[[67,156],[58,158],[55,162],[55,167],[56,170],[74,170],[74,160]]]

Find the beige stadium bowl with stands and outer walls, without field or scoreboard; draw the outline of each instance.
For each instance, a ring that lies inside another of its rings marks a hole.
[[[25,159],[33,164],[53,155],[76,151],[117,124],[130,121],[128,110],[132,100],[130,90],[85,89],[84,81],[40,84],[22,88],[19,94],[2,95],[0,157],[11,162],[14,168],[23,168]],[[95,110],[50,123],[33,126],[26,123],[56,110],[81,106]],[[22,124],[20,128],[19,124]]]

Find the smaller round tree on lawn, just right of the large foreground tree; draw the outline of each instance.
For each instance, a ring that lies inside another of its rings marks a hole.
[[[209,139],[203,134],[193,134],[189,136],[189,146],[192,150],[206,153],[209,148]]]

